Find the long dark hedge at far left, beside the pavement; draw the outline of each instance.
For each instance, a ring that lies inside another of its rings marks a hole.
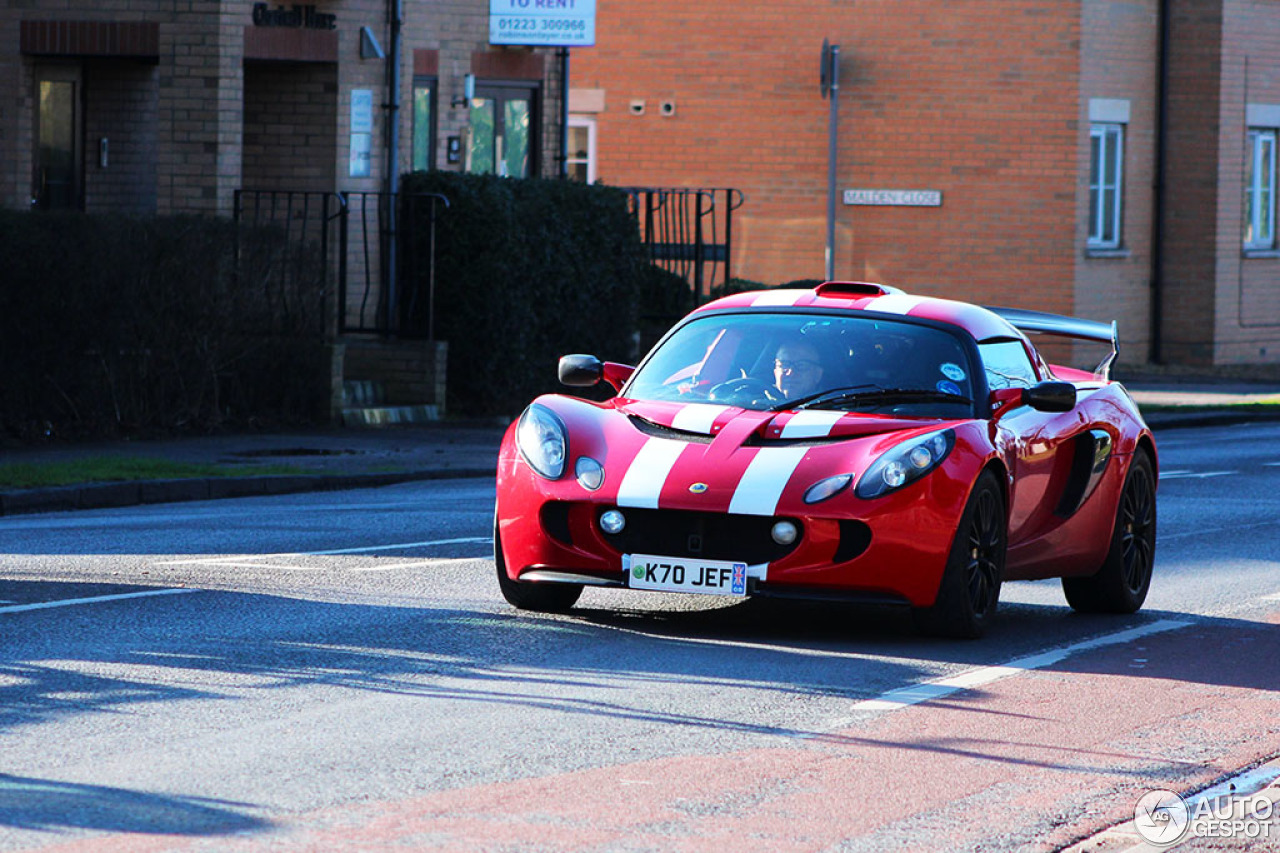
[[[323,278],[271,232],[239,237],[225,219],[0,211],[0,434],[325,416]]]

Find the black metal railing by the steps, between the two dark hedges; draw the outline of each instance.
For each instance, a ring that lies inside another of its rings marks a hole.
[[[435,222],[448,204],[431,193],[237,190],[233,215],[274,231],[282,291],[319,277],[337,296],[332,330],[434,339]],[[426,251],[396,240],[398,222],[428,231]]]

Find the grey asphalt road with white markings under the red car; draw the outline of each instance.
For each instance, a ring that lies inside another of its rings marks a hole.
[[[1158,438],[1147,608],[977,643],[517,613],[485,480],[0,519],[0,850],[1059,849],[1280,754],[1280,425]]]

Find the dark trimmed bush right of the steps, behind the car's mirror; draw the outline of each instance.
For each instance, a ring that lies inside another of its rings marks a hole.
[[[636,357],[641,298],[654,287],[627,195],[570,181],[413,173],[406,195],[433,192],[435,330],[449,343],[449,411],[511,415],[559,391],[568,352]],[[426,231],[404,231],[426,252]]]

